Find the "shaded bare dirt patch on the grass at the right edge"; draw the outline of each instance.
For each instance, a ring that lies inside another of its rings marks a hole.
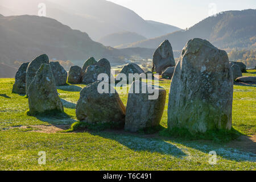
[[[256,135],[252,135],[251,137],[241,136],[237,140],[229,142],[226,146],[256,154]]]

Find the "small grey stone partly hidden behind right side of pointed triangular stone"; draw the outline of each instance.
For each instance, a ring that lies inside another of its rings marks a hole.
[[[52,73],[55,78],[56,86],[65,85],[67,83],[68,73],[60,65],[59,62],[50,62]]]

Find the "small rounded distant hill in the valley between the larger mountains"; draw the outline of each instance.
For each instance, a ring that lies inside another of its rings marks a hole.
[[[146,40],[142,35],[139,35],[135,32],[118,32],[114,34],[109,34],[104,36],[103,38],[97,40],[97,42],[100,42],[104,44],[105,46],[124,46],[133,42],[138,42],[141,40]]]

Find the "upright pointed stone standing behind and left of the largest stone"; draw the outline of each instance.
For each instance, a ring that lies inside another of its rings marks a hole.
[[[155,71],[162,75],[164,69],[168,67],[175,67],[174,52],[172,52],[170,42],[168,40],[164,40],[153,55],[152,72]]]

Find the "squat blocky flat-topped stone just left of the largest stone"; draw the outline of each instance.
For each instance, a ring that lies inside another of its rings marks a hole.
[[[139,93],[134,92],[136,84],[139,85]],[[126,105],[125,130],[136,132],[160,124],[166,103],[166,90],[151,87],[159,92],[159,96],[155,100],[149,100],[148,96],[151,94],[148,91],[142,92],[142,86],[148,88],[152,85],[141,81],[134,81],[131,85]]]

